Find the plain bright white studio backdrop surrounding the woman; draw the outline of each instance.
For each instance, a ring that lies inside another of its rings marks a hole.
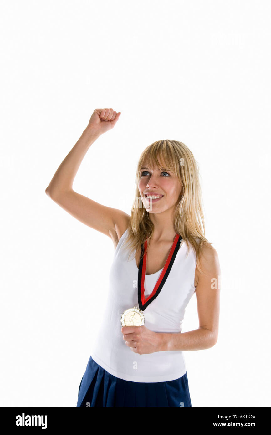
[[[221,265],[217,344],[185,352],[192,406],[270,406],[269,1],[1,1],[0,405],[76,406],[110,238],[45,194],[95,108],[120,111],[74,180],[130,214],[141,152],[184,142]],[[195,295],[182,332],[198,327]],[[110,328],[110,325],[108,325]]]

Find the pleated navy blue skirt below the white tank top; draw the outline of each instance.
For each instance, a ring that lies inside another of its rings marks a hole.
[[[174,381],[133,382],[116,378],[90,355],[81,379],[77,407],[192,406],[187,373]]]

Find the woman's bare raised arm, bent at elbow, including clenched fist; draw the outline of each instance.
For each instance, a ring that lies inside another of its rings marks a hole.
[[[106,207],[73,190],[73,182],[80,164],[90,146],[116,124],[120,112],[95,109],[87,128],[58,167],[47,186],[46,194],[74,218],[112,238],[116,247],[128,227],[130,216],[122,210]]]

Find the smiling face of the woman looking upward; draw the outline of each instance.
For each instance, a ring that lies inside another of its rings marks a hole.
[[[151,169],[147,164],[141,168],[138,189],[149,213],[161,213],[171,207],[175,210],[183,190],[178,178],[166,166],[161,171],[157,166]],[[148,199],[147,194],[153,199]]]

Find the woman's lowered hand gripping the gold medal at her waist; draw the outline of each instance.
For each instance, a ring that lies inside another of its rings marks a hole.
[[[123,326],[121,328],[126,346],[140,355],[161,350],[161,334],[145,326]]]

